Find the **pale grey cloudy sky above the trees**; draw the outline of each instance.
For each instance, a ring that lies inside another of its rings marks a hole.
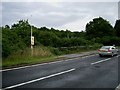
[[[36,27],[59,30],[84,31],[87,23],[103,17],[112,26],[118,19],[118,1],[80,0],[4,0],[0,7],[0,26],[12,25],[19,20],[29,20]]]

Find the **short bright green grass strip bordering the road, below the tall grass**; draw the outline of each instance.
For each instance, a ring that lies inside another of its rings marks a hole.
[[[32,65],[38,63],[45,63],[54,61],[57,57],[56,56],[49,56],[49,57],[17,57],[16,59],[6,59],[2,62],[2,68],[12,68],[12,67],[19,67],[25,65]]]

